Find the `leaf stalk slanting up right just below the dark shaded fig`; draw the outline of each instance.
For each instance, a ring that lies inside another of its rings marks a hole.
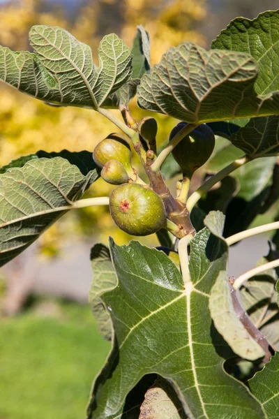
[[[211,189],[216,183],[220,182],[220,180],[224,179],[229,173],[232,173],[234,170],[240,168],[244,164],[248,163],[250,161],[247,156],[242,157],[241,159],[237,159],[230,163],[228,166],[220,170],[220,172],[216,173],[216,175],[213,175],[209,180],[204,182],[202,186],[199,186],[199,189],[192,193],[192,195],[188,198],[187,201],[187,210],[191,212],[193,210],[193,207],[195,207],[196,203],[204,193],[208,192],[209,189]]]

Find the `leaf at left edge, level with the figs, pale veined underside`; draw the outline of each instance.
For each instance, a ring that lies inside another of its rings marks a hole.
[[[76,153],[73,160],[86,153]],[[64,154],[70,159],[69,152]],[[13,168],[0,175],[0,266],[33,243],[98,179],[95,163],[85,175],[75,163],[61,157],[30,157],[23,167],[28,157],[19,159],[18,168],[14,161]]]

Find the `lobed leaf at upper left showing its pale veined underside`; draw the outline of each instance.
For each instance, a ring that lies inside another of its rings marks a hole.
[[[100,42],[98,68],[90,47],[65,29],[34,26],[29,38],[33,54],[0,47],[0,79],[42,101],[96,109],[132,73],[130,50],[115,34]]]

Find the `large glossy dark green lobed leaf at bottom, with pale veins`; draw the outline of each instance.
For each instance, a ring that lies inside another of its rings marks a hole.
[[[138,242],[111,253],[118,285],[102,296],[112,316],[114,348],[97,378],[88,418],[120,418],[126,395],[145,374],[172,383],[190,418],[264,419],[258,402],[227,375],[232,355],[209,313],[209,293],[227,264],[227,247],[207,228],[191,243],[186,287],[167,256]],[[234,397],[232,397],[234,395]]]

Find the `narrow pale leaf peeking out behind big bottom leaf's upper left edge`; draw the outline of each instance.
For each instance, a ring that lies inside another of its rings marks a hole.
[[[100,295],[117,285],[116,272],[110,258],[110,250],[103,244],[95,244],[91,249],[90,259],[93,281],[89,291],[89,303],[100,332],[105,339],[110,341],[112,340],[112,321]]]

